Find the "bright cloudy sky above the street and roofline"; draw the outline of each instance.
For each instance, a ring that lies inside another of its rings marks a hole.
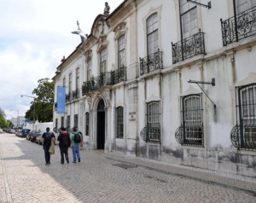
[[[7,119],[25,116],[38,79],[53,78],[63,55],[80,44],[106,0],[0,0],[0,107]],[[123,0],[107,0],[110,12]],[[10,111],[13,109],[13,111]]]

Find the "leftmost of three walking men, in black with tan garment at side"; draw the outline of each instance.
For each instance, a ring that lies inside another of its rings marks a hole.
[[[49,127],[46,128],[46,132],[42,135],[42,145],[44,148],[45,165],[50,164],[49,148],[50,144],[55,142],[55,134],[49,131]]]

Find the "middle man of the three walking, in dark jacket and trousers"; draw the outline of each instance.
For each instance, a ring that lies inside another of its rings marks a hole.
[[[67,160],[67,164],[69,164],[69,159],[68,159],[68,148],[70,147],[71,141],[69,134],[67,133],[66,129],[64,127],[61,127],[61,133],[58,136],[58,141],[59,141],[59,147],[61,151],[61,164],[64,164],[64,154],[65,154],[65,159]]]

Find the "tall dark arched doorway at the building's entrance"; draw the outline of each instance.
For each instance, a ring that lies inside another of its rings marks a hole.
[[[104,149],[105,145],[105,104],[101,100],[97,107],[97,149]]]

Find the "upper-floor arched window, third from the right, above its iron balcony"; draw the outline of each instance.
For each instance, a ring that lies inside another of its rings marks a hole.
[[[157,14],[152,14],[147,20],[147,43],[148,43],[148,55],[152,55],[157,52],[159,48],[158,44],[158,17]]]

